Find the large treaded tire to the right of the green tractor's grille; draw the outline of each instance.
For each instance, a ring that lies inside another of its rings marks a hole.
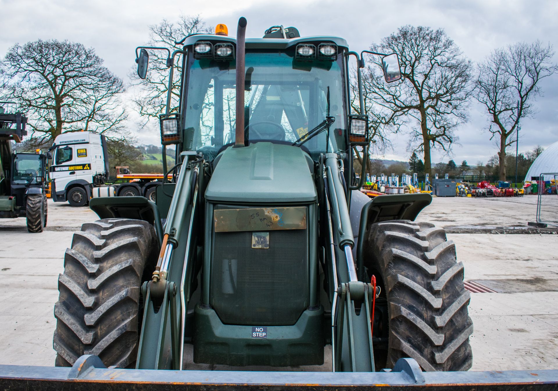
[[[456,262],[455,244],[444,229],[387,221],[373,224],[367,240],[365,266],[382,287],[377,303],[387,306],[388,327],[379,327],[388,336],[386,366],[410,357],[426,371],[470,369],[470,294],[463,286],[463,263]]]

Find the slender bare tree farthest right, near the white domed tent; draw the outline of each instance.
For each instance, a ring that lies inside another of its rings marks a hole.
[[[536,114],[532,102],[542,95],[539,81],[558,70],[550,62],[552,56],[550,44],[520,42],[494,50],[478,65],[476,98],[488,111],[488,130],[490,139],[498,143],[498,175],[502,181],[506,180],[506,148],[517,142],[521,119]]]

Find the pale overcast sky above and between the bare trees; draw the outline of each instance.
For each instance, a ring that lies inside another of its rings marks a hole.
[[[67,39],[94,47],[105,65],[125,81],[128,70],[135,65],[134,49],[147,40],[148,25],[163,18],[174,21],[181,13],[199,14],[211,26],[225,23],[233,33],[238,18],[244,16],[248,20],[247,37],[261,37],[272,25],[297,27],[302,36],[336,35],[345,38],[354,51],[367,49],[406,24],[444,28],[473,61],[482,60],[496,47],[518,41],[539,39],[558,47],[556,0],[0,0],[0,11],[0,56],[16,43]],[[558,141],[558,75],[543,80],[541,86],[545,96],[537,100],[538,114],[521,125],[520,152]],[[461,146],[454,147],[451,157],[435,152],[432,161],[453,158],[458,165],[462,160],[469,165],[486,163],[497,152],[489,141],[490,134],[483,131],[487,123],[485,112],[473,104],[470,122],[457,131]],[[136,128],[130,123],[131,130]],[[157,131],[137,132],[137,137],[142,143],[159,143]],[[393,141],[394,150],[386,151],[384,157],[408,160],[405,134],[398,134]]]

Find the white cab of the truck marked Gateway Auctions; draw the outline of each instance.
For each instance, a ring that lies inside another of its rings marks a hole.
[[[72,206],[88,204],[93,186],[108,177],[107,141],[95,132],[67,132],[57,136],[51,149],[52,200],[68,201]]]

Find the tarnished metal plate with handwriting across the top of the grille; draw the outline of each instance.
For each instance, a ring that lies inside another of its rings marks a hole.
[[[215,232],[306,229],[304,206],[218,209],[213,216]]]

